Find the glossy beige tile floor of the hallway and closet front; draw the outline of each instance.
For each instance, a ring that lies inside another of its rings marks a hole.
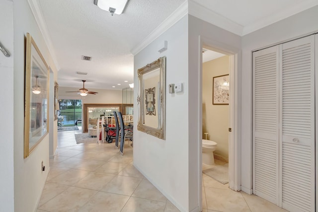
[[[122,156],[114,143],[76,144],[76,133],[58,133],[37,212],[179,212],[133,166],[130,145]],[[202,180],[203,212],[286,212],[205,174]]]

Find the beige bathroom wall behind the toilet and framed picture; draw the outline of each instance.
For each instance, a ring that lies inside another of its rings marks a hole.
[[[229,74],[229,56],[206,62],[202,66],[202,138],[218,143],[214,157],[229,162],[229,105],[214,105],[213,77]],[[230,94],[231,98],[231,94]]]

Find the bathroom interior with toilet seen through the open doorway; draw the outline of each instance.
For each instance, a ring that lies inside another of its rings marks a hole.
[[[229,55],[203,48],[202,170],[223,184],[229,182],[229,66]]]

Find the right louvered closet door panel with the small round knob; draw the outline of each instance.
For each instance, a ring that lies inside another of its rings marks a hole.
[[[280,46],[282,207],[315,211],[314,36]]]

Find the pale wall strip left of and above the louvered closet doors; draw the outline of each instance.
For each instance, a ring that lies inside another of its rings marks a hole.
[[[318,32],[318,6],[242,37],[241,189],[252,189],[252,61],[251,52],[302,35]]]

